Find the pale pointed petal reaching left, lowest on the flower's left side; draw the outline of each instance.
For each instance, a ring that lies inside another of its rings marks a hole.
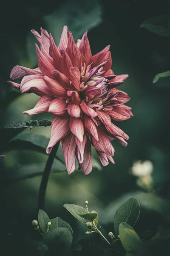
[[[38,113],[47,113],[50,103],[53,101],[53,97],[42,96],[33,109],[24,111],[23,114],[35,115]]]

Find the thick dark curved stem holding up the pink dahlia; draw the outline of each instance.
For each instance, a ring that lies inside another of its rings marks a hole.
[[[51,167],[53,165],[54,157],[57,154],[57,150],[59,148],[59,143],[60,141],[54,145],[54,147],[51,150],[51,153],[48,156],[47,162],[45,164],[45,169],[42,175],[42,180],[40,183],[40,189],[39,189],[39,194],[38,194],[38,210],[45,209],[45,194],[46,194],[46,189],[47,189],[47,184],[48,184],[48,178],[50,176],[51,172]]]

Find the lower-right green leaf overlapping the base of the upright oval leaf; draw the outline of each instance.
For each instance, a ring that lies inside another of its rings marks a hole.
[[[138,234],[129,224],[122,222],[119,225],[120,240],[127,252],[139,253],[142,247],[142,241]]]

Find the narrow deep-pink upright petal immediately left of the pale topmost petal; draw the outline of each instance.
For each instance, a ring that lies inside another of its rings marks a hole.
[[[61,71],[60,64],[61,64],[62,56],[61,56],[51,34],[50,34],[49,53],[50,53],[51,57],[53,57],[54,67],[57,68],[57,70]]]

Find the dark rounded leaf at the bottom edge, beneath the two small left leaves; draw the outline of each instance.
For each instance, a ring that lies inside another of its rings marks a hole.
[[[49,255],[67,256],[71,250],[72,234],[68,228],[57,227],[46,233],[42,242],[48,245]]]

